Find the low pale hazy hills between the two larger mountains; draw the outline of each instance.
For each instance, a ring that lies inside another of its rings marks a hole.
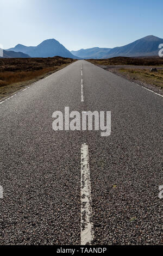
[[[93,47],[88,49],[81,49],[79,51],[71,51],[71,53],[84,59],[101,59],[103,56],[108,54],[110,50],[110,48]]]

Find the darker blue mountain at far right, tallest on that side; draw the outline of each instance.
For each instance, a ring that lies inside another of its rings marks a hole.
[[[103,58],[158,56],[159,44],[163,44],[163,39],[148,35],[145,38],[131,42],[131,44],[112,48]]]

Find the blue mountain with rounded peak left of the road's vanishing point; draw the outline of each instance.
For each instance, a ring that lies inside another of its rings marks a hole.
[[[37,46],[24,46],[16,45],[14,48],[8,50],[12,51],[22,51],[23,53],[28,54],[31,57],[54,57],[61,56],[65,58],[77,59],[78,57],[74,56],[70,51],[68,51],[63,45],[60,44],[55,39],[48,39]]]

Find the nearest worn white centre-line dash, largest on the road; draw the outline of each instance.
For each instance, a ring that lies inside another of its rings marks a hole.
[[[81,148],[81,245],[91,245],[91,242],[93,241],[94,233],[91,216],[89,149],[86,144],[83,144]]]

